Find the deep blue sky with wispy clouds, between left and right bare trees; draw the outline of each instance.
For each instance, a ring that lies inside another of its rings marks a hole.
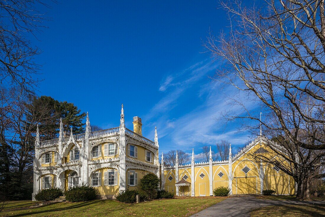
[[[88,111],[103,128],[119,125],[124,104],[126,127],[143,122],[143,135],[160,152],[201,152],[221,139],[242,146],[247,133],[236,123],[215,121],[230,109],[226,95],[209,79],[219,65],[203,53],[209,28],[227,29],[217,1],[63,1],[51,4],[48,28],[33,39],[43,52],[39,95],[66,100]],[[253,105],[252,105],[253,108]]]

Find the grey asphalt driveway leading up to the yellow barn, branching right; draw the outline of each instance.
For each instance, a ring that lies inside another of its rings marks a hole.
[[[286,200],[263,200],[253,196],[236,196],[227,198],[211,207],[206,208],[190,217],[249,217],[249,213],[256,208],[277,205],[302,205],[324,204],[324,201],[286,201]]]

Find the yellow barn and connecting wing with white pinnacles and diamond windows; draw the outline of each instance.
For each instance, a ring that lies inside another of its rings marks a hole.
[[[234,157],[230,146],[226,161],[213,161],[211,147],[209,162],[195,163],[193,149],[190,164],[178,165],[176,152],[175,166],[165,167],[162,155],[162,185],[178,196],[212,196],[219,186],[229,186],[230,194],[261,194],[263,189],[273,189],[279,195],[294,194],[291,176],[274,165],[254,161],[256,154],[274,157],[265,141],[259,136]]]

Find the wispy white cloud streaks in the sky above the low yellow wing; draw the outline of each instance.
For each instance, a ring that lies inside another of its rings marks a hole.
[[[216,66],[217,63],[202,61],[179,74],[166,76],[161,83],[159,90],[165,96],[144,119],[158,127],[164,152],[176,148],[191,152],[193,147],[199,153],[201,146],[214,145],[221,139],[235,145],[244,144],[248,139],[246,134],[238,133],[236,126],[225,128],[214,119],[221,111],[234,109],[225,96],[236,92],[233,87],[222,89],[208,79]]]

